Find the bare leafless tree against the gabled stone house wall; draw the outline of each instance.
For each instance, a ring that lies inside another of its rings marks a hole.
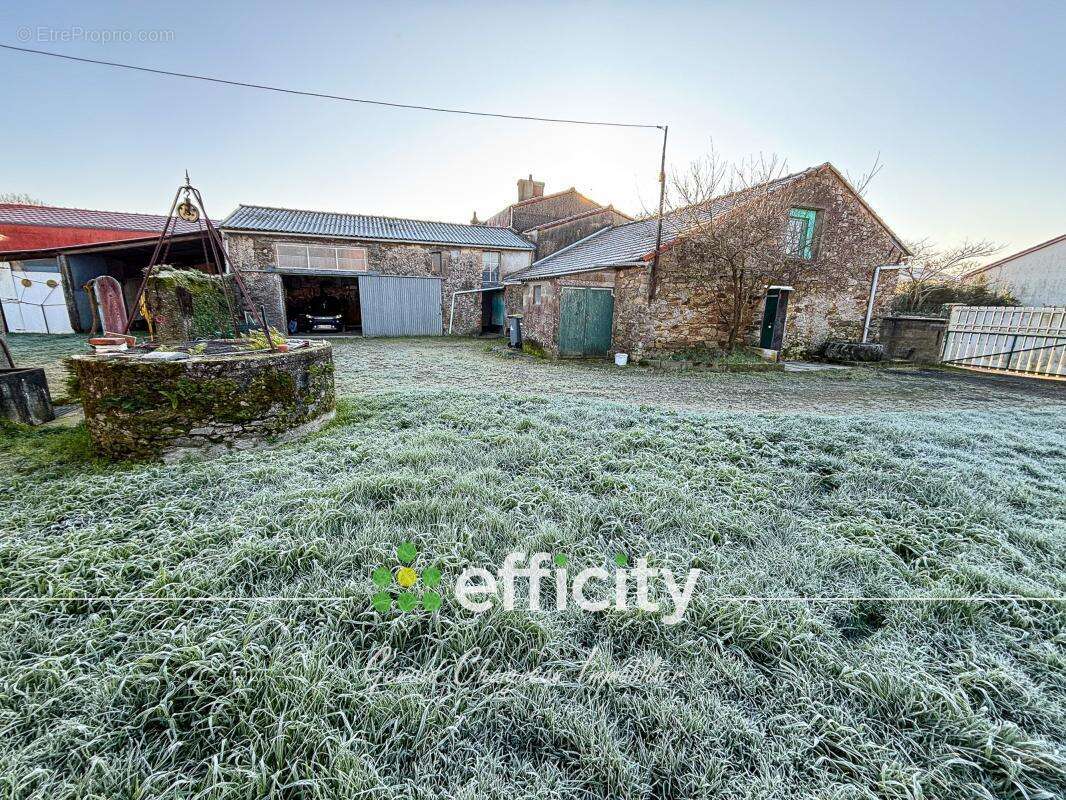
[[[743,341],[766,286],[807,269],[789,241],[796,181],[787,173],[777,156],[729,162],[712,149],[667,187],[664,224],[683,230],[673,244],[678,271],[710,289],[726,350]]]

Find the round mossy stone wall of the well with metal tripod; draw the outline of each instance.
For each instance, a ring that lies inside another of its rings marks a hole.
[[[69,359],[97,451],[173,461],[309,432],[336,409],[328,342],[187,361]]]

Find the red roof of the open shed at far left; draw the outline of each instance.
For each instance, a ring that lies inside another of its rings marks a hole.
[[[0,203],[0,253],[139,239],[158,234],[165,222],[162,214]],[[198,223],[176,223],[178,234],[200,229]]]

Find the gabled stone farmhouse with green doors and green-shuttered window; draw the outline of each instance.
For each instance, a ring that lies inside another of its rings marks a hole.
[[[747,343],[802,352],[830,338],[856,339],[875,268],[897,265],[909,251],[831,164],[774,181],[786,182],[796,205],[781,220],[781,246],[808,262],[804,274],[811,277],[765,287],[761,320]],[[672,247],[685,224],[677,217],[663,221],[653,299],[648,282],[658,219],[603,227],[508,276],[508,310],[523,315],[523,336],[559,356],[641,358],[715,346],[723,337],[711,290],[679,268]],[[887,310],[894,283],[894,272],[882,273],[875,319]]]

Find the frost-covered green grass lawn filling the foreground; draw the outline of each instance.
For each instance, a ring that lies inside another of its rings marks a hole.
[[[194,465],[102,465],[80,428],[0,443],[2,797],[1066,793],[1066,604],[955,599],[1066,594],[1061,406],[386,387]],[[379,614],[408,539],[445,607]],[[456,607],[463,566],[516,549],[707,576],[675,626]]]

